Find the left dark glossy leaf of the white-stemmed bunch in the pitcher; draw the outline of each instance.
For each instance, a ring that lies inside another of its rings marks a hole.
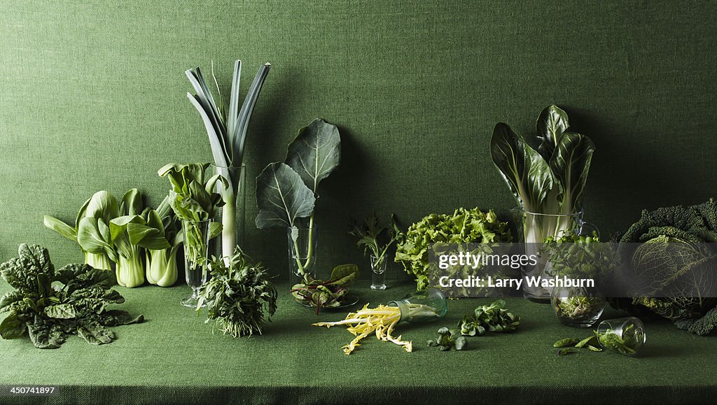
[[[535,212],[553,188],[554,176],[548,162],[504,123],[498,123],[490,138],[490,155],[518,204]]]

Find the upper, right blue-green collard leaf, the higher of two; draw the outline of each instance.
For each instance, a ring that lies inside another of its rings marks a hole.
[[[286,164],[299,173],[304,184],[316,194],[318,184],[341,161],[341,137],[336,125],[316,118],[289,145]]]

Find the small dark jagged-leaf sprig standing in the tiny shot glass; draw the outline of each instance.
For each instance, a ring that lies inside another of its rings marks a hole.
[[[376,269],[381,269],[386,261],[386,252],[401,237],[401,230],[396,224],[394,215],[391,214],[390,226],[384,227],[380,224],[376,211],[366,218],[364,224],[354,221],[353,227],[348,233],[359,238],[356,246],[360,249],[363,248],[364,254],[370,253],[376,258],[374,262]]]

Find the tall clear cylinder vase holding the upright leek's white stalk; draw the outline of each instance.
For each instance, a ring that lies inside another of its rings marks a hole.
[[[246,206],[246,170],[247,166],[224,167],[212,163],[207,169],[206,178],[219,174],[227,179],[228,187],[222,181],[217,182],[215,191],[222,195],[224,206],[217,209],[215,221],[222,222],[222,234],[212,240],[212,254],[216,257],[229,257],[237,245],[244,242],[244,214]]]

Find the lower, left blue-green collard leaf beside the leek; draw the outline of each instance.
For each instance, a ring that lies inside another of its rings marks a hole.
[[[298,218],[310,216],[315,197],[293,168],[270,163],[257,177],[257,228],[294,227]]]

